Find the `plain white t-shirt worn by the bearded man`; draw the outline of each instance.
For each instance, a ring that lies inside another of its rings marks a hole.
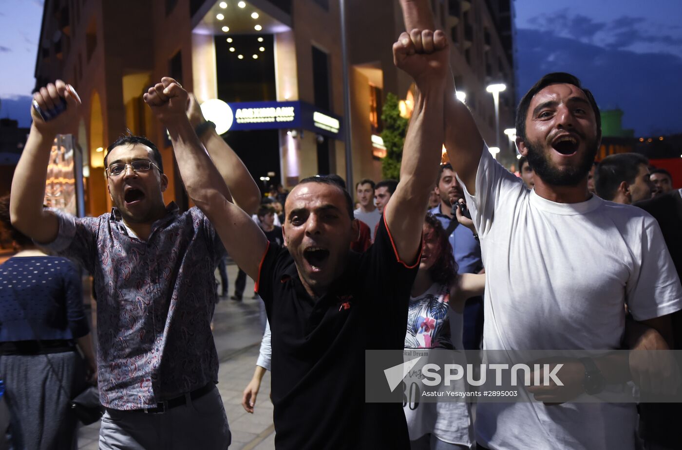
[[[486,266],[484,349],[617,349],[623,304],[638,321],[682,308],[668,248],[644,210],[596,195],[550,202],[488,148],[475,189],[464,193]],[[634,449],[636,419],[634,404],[479,403],[475,434],[494,450]]]

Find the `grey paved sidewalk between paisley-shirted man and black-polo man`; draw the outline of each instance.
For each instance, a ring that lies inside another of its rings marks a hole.
[[[237,266],[228,266],[230,294],[233,293],[236,276]],[[258,302],[261,300],[252,300],[253,285],[253,281],[248,278],[243,302],[222,300],[216,306],[214,316],[216,322],[214,337],[220,357],[218,389],[232,432],[230,450],[275,448],[273,408],[269,399],[270,372],[263,377],[254,413],[249,414],[241,407],[241,394],[253,376],[261,342],[258,334]],[[99,422],[80,428],[78,449],[97,450],[99,432]]]

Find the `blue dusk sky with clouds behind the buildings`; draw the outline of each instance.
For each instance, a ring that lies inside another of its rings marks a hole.
[[[397,1],[397,0],[396,0]],[[0,0],[0,117],[28,126],[42,0]],[[516,0],[517,96],[568,71],[636,135],[682,132],[682,0]]]

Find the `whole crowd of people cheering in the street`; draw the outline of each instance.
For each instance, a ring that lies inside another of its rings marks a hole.
[[[233,300],[250,276],[263,304],[261,355],[243,407],[254,411],[271,370],[278,449],[679,447],[669,420],[677,404],[638,411],[571,401],[621,383],[623,372],[640,389],[657,389],[654,368],[627,358],[567,359],[562,385],[529,387],[520,393],[527,401],[475,411],[464,402],[365,402],[366,350],[665,350],[682,342],[682,197],[670,174],[634,154],[595,164],[599,109],[565,73],[544,76],[522,97],[522,159],[512,174],[456,99],[430,2],[401,5],[409,32],[394,44],[394,62],[417,97],[400,179],[360,180],[357,207],[336,175],[271,189],[261,204],[194,96],[164,77],[144,99],[168,130],[196,206],[164,204],[158,148],[124,135],[104,157],[110,213],[44,208],[50,148],[77,123],[80,100],[61,80],[35,93],[11,198],[0,203],[21,246],[0,267],[0,377],[16,449],[71,448],[66,400],[87,378],[104,406],[100,449],[226,449],[211,333],[214,271],[224,270],[226,254],[240,268]],[[44,120],[38,110],[55,114]],[[443,144],[451,163],[441,164]],[[93,276],[96,356],[71,260]]]

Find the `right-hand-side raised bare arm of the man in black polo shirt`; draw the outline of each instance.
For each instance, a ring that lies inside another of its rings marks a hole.
[[[412,76],[419,95],[402,150],[400,182],[386,207],[385,219],[398,257],[413,262],[441,159],[443,93],[449,71],[447,39],[443,31],[413,30],[398,37],[393,52],[396,66]]]

